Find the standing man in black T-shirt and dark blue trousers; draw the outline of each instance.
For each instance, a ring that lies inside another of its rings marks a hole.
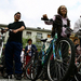
[[[22,35],[23,30],[26,28],[24,22],[19,22],[21,13],[17,12],[14,14],[14,23],[8,25],[5,29],[12,29],[9,32],[9,39],[5,44],[5,66],[6,66],[6,76],[4,78],[12,78],[13,75],[13,57],[15,60],[15,77],[16,80],[22,79],[22,63],[21,63],[21,53],[23,50],[22,44]],[[5,32],[3,30],[2,32]],[[14,55],[13,55],[14,54]]]

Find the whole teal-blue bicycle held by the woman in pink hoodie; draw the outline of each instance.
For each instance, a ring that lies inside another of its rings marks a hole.
[[[51,19],[51,22],[53,21]],[[53,22],[53,24],[55,22]],[[33,63],[31,63],[31,64],[28,64],[27,69],[33,70],[32,78],[30,77],[30,73],[28,76],[31,80],[37,80],[42,76],[43,69],[45,69],[48,72],[48,80],[66,81],[71,75],[75,66],[75,44],[69,38],[58,39],[57,28],[55,29],[55,36],[51,41],[49,49],[44,52],[46,40],[48,39],[41,40],[43,42],[41,51],[38,53],[38,56],[35,56]],[[33,68],[31,69],[30,67],[32,65]]]

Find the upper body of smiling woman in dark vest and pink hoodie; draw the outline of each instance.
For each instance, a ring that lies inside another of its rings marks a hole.
[[[43,18],[48,18],[48,15],[44,14]],[[66,33],[66,27],[70,27],[70,21],[67,17],[67,8],[65,5],[60,5],[57,10],[57,14],[53,16],[53,21],[58,24],[53,24],[52,22],[45,22],[46,25],[53,25],[52,28],[52,37],[55,35],[55,28],[57,28],[58,38],[59,37],[69,37],[70,33]]]

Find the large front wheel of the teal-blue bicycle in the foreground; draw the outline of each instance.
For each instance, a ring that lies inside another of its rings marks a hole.
[[[50,81],[66,81],[75,65],[75,45],[68,38],[56,41],[55,58],[51,49],[48,62],[48,77]]]

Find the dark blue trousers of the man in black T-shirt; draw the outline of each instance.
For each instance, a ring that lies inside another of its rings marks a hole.
[[[13,73],[13,59],[15,60],[15,73],[22,73],[21,53],[23,45],[19,42],[8,42],[5,45],[5,67],[6,73]]]

